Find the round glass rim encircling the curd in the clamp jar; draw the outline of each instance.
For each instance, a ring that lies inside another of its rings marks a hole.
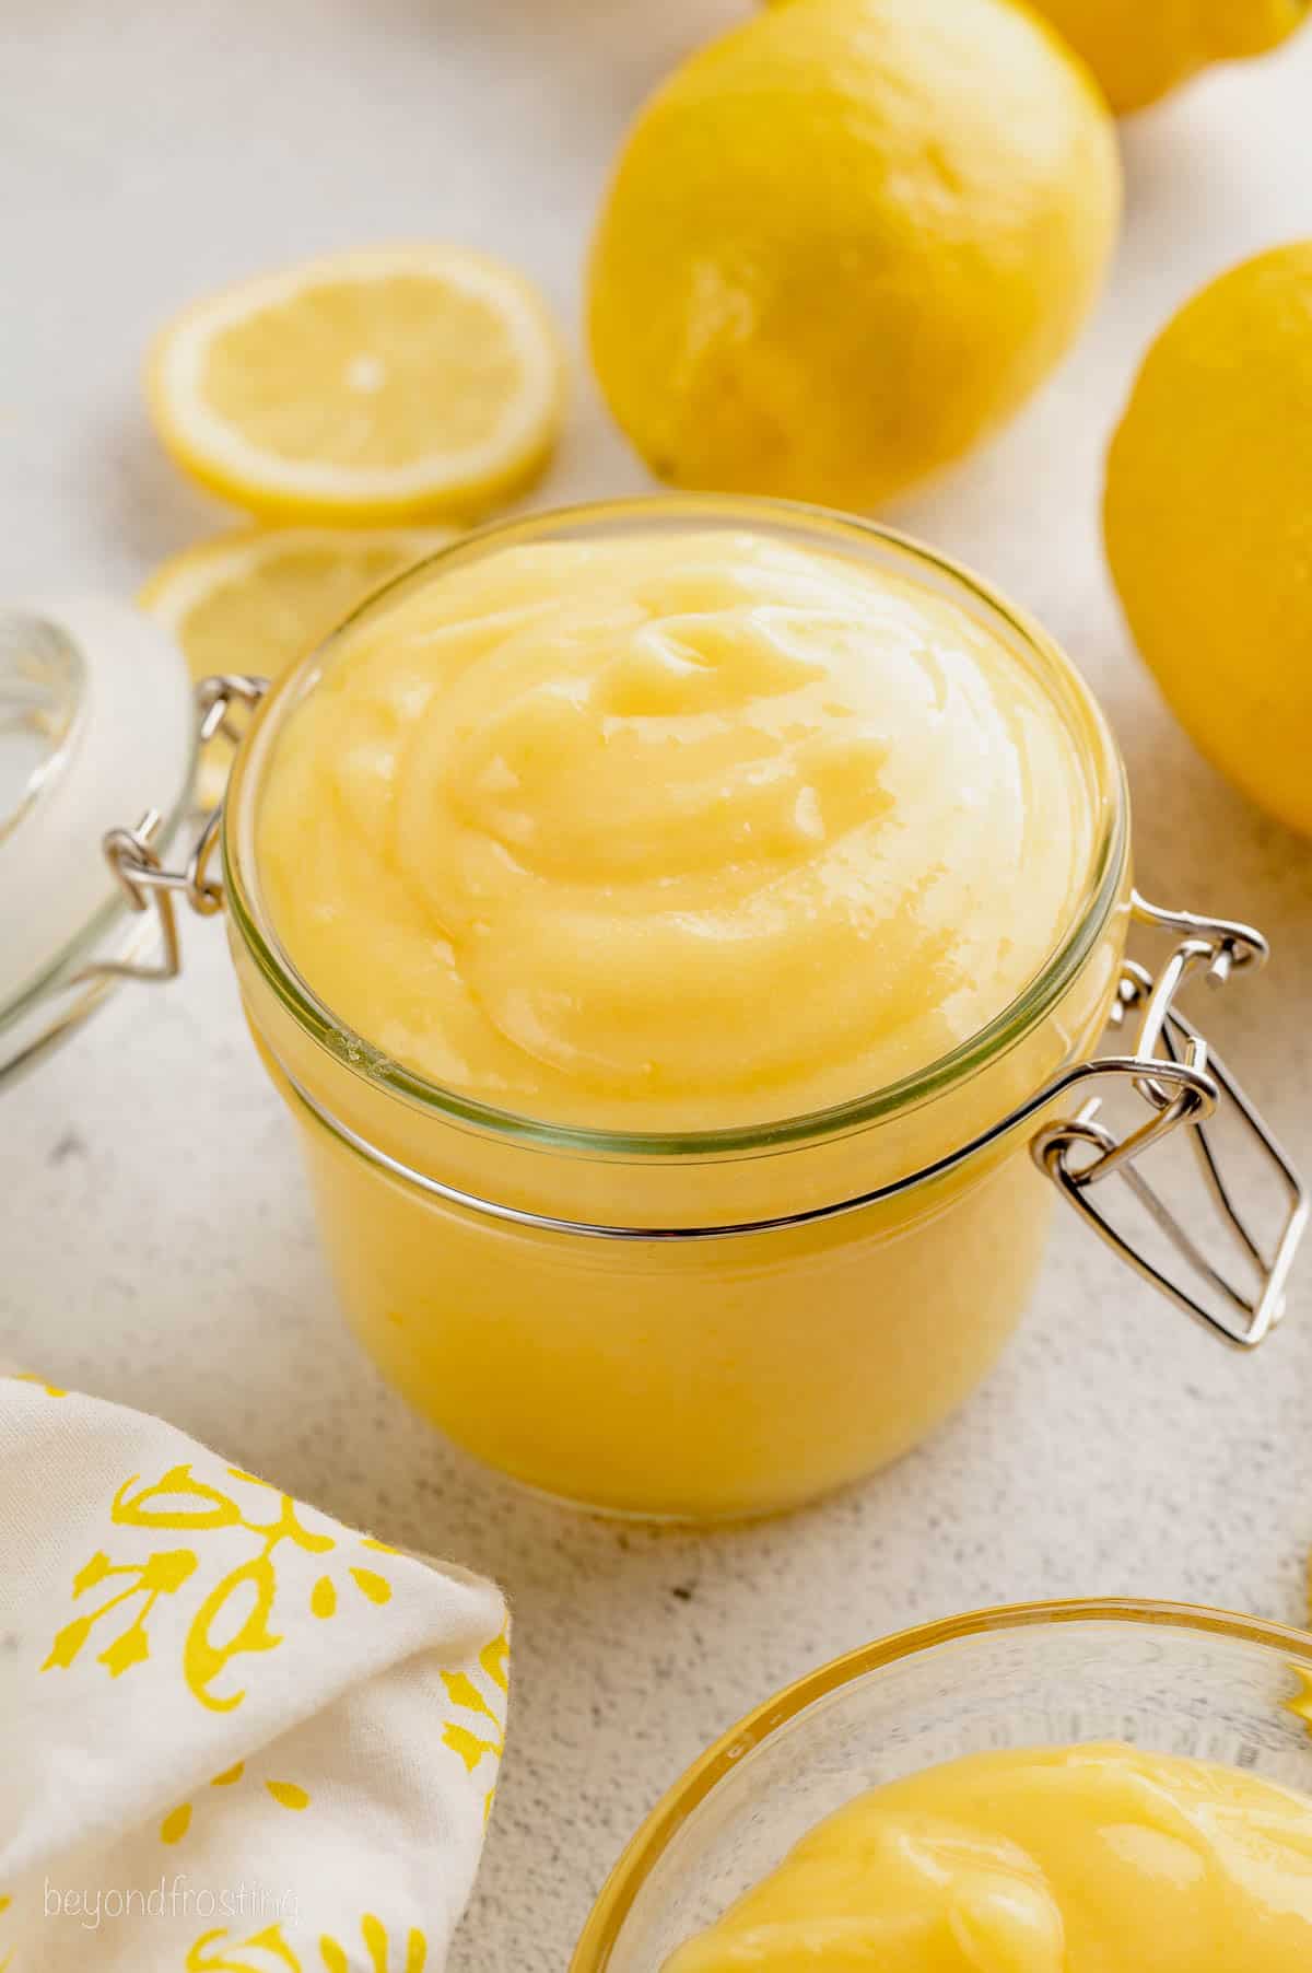
[[[260,769],[268,762],[270,746],[282,720],[302,696],[314,691],[337,641],[385,600],[395,600],[410,588],[430,582],[446,566],[464,564],[503,547],[545,539],[570,539],[596,533],[598,529],[637,527],[651,531],[653,527],[685,529],[691,525],[756,527],[775,533],[809,535],[811,539],[825,539],[829,543],[846,541],[858,552],[862,548],[866,552],[878,548],[917,564],[921,574],[929,574],[939,586],[957,592],[959,598],[965,596],[977,610],[983,606],[988,616],[1000,620],[1006,631],[1020,639],[1026,655],[1036,661],[1040,683],[1067,722],[1083,726],[1083,752],[1093,764],[1095,793],[1101,797],[1101,817],[1089,858],[1087,882],[1057,945],[1026,986],[965,1042],[880,1089],[793,1117],[710,1131],[594,1129],[497,1109],[495,1105],[481,1103],[477,1097],[434,1083],[387,1056],[377,1044],[357,1034],[349,1022],[341,1020],[298,973],[258,898],[258,884],[253,882],[256,874],[255,797],[258,793]],[[649,493],[629,499],[554,507],[511,521],[493,521],[462,535],[375,590],[324,643],[310,651],[264,694],[233,762],[223,803],[221,842],[223,886],[231,923],[282,1006],[339,1067],[351,1069],[385,1093],[420,1111],[434,1113],[446,1123],[474,1127],[529,1148],[623,1158],[716,1156],[815,1142],[888,1121],[965,1083],[1036,1028],[1079,975],[1117,908],[1129,858],[1129,789],[1125,766],[1105,714],[1071,659],[1038,621],[951,556],[876,521],[801,501],[718,493]]]

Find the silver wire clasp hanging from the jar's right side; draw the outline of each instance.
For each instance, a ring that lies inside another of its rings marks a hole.
[[[1140,898],[1138,892],[1134,892],[1132,915],[1140,925],[1174,933],[1178,945],[1156,977],[1136,961],[1125,961],[1113,1024],[1125,1026],[1138,1014],[1134,1050],[1129,1056],[1101,1058],[1091,1063],[1091,1069],[1129,1081],[1148,1105],[1148,1115],[1136,1129],[1117,1138],[1097,1121],[1101,1099],[1095,1097],[1075,1117],[1038,1131],[1030,1150],[1040,1170],[1083,1213],[1093,1231],[1144,1280],[1227,1344],[1255,1350],[1284,1314],[1288,1271],[1308,1223],[1308,1192],[1241,1085],[1174,1000],[1186,981],[1198,973],[1207,979],[1209,986],[1223,986],[1231,973],[1245,967],[1257,971],[1267,961],[1267,941],[1251,925],[1196,917],[1192,912],[1164,912]],[[1217,1117],[1221,1107],[1245,1127],[1286,1200],[1280,1229],[1275,1241],[1265,1247],[1241,1213],[1209,1136],[1209,1121]],[[1207,1190],[1219,1207],[1221,1225],[1251,1275],[1253,1286],[1247,1290],[1217,1271],[1190,1227],[1138,1170],[1144,1152],[1182,1125]],[[1111,1176],[1125,1180],[1194,1277],[1207,1282],[1219,1308],[1207,1306],[1182,1280],[1156,1267],[1099,1209],[1093,1190]]]

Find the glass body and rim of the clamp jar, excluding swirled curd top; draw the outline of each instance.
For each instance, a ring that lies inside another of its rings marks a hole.
[[[1000,639],[1077,748],[1095,817],[1079,904],[1038,977],[981,1034],[837,1109],[685,1136],[495,1111],[389,1060],[298,977],[260,892],[268,762],[343,639],[414,586],[509,545],[687,527],[750,527],[910,572]],[[225,689],[255,687],[211,681],[207,732],[225,716]],[[1219,1101],[1202,1044],[1182,1030],[1170,1040],[1178,981],[1160,994],[1123,969],[1130,917],[1146,908],[1130,890],[1121,760],[1083,681],[975,578],[837,515],[659,497],[468,537],[381,592],[264,696],[223,819],[191,860],[201,904],[217,898],[205,874],[215,833],[247,1020],[296,1119],[353,1328],[452,1440],[594,1509],[760,1515],[896,1458],[981,1381],[1020,1318],[1048,1233],[1048,1180],[1083,1207],[1099,1160],[1121,1168]],[[124,878],[178,884],[148,856],[128,856]],[[1261,957],[1257,933],[1237,925],[1200,927],[1192,945],[1186,971]],[[1152,1077],[1138,1056],[1091,1065],[1109,1014],[1138,1004],[1156,1030]],[[1148,1111],[1125,1146],[1073,1115],[1077,1097],[1115,1075],[1138,1079]],[[1257,1294],[1235,1296],[1237,1340],[1269,1326],[1294,1237]]]

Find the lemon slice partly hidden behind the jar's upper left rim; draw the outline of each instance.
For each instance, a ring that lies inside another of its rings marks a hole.
[[[276,679],[371,596],[452,541],[452,529],[239,529],[164,562],[140,592],[178,639],[193,679],[253,671]],[[201,760],[199,799],[223,793],[229,748]]]

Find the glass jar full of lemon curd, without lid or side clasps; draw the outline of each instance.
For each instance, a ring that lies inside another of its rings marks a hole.
[[[669,507],[385,592],[270,696],[225,854],[383,1367],[537,1488],[702,1517],[858,1478],[986,1369],[1046,1229],[1024,1136],[805,1215],[1087,1050],[1129,872],[1040,633],[874,531]]]

